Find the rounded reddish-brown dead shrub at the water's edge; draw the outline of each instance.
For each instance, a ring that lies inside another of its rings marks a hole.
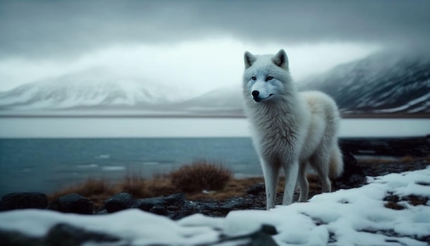
[[[170,174],[170,181],[183,192],[223,190],[231,179],[231,171],[220,164],[195,161]]]

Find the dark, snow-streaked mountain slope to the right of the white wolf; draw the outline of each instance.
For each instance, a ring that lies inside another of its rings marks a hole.
[[[301,83],[335,98],[344,115],[430,116],[430,56],[380,53]]]

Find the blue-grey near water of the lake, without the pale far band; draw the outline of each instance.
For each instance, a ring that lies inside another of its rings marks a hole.
[[[0,196],[52,192],[87,177],[152,177],[199,159],[225,164],[238,177],[262,174],[247,137],[0,139]]]

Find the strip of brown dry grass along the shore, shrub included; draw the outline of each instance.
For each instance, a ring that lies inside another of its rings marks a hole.
[[[406,162],[410,160],[411,157],[402,159]],[[359,161],[367,162],[367,160]],[[383,161],[381,161],[382,163]],[[310,189],[321,190],[321,181],[317,175],[308,175],[308,181]],[[264,183],[263,177],[233,179],[231,172],[223,166],[198,161],[192,165],[183,166],[168,175],[154,175],[151,179],[144,179],[141,172],[128,173],[117,183],[110,183],[106,179],[89,178],[82,183],[54,192],[49,196],[49,200],[52,201],[70,193],[78,193],[93,201],[95,208],[102,208],[105,199],[119,192],[128,192],[135,198],[159,197],[184,192],[189,200],[228,199],[247,195],[248,188],[257,183]],[[284,183],[284,177],[280,177],[278,192],[284,191]],[[215,192],[204,193],[203,190]]]

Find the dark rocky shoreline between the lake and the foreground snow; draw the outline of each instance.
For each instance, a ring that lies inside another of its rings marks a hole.
[[[419,170],[430,165],[430,137],[405,137],[398,139],[341,139],[345,170],[343,175],[332,181],[332,190],[357,188],[366,183],[366,177],[386,175],[391,172]],[[361,155],[372,159],[357,159]],[[403,157],[402,159],[378,159],[381,156]],[[319,178],[308,175],[309,197],[319,194]],[[298,192],[294,195],[298,199]],[[282,203],[282,191],[278,192],[278,204]],[[0,211],[21,208],[39,208],[78,214],[107,214],[138,208],[147,212],[181,219],[191,214],[226,216],[232,210],[264,210],[266,207],[264,183],[250,186],[241,196],[228,199],[198,199],[190,201],[185,194],[177,193],[166,197],[138,198],[128,193],[115,194],[104,201],[103,208],[94,208],[93,202],[80,194],[67,194],[48,203],[47,196],[38,192],[11,193],[3,196]]]

